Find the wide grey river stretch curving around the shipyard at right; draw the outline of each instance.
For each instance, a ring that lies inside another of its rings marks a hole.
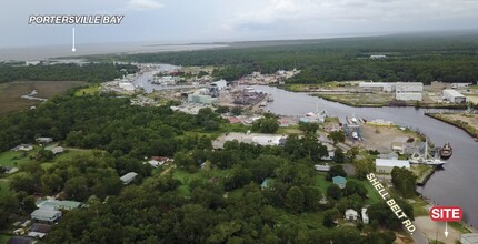
[[[277,88],[257,85],[257,90],[270,92],[275,99],[265,110],[283,115],[303,115],[307,112],[326,110],[333,116],[345,119],[356,115],[367,120],[385,119],[397,124],[419,130],[436,145],[450,142],[454,155],[444,170],[436,171],[418,192],[439,205],[458,205],[465,211],[464,220],[478,226],[478,143],[464,131],[425,116],[425,110],[415,108],[351,108],[302,93],[288,92]]]

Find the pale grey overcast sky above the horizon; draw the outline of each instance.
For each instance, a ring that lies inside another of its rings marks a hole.
[[[71,26],[29,26],[30,14],[125,14],[120,26],[77,26],[78,43],[301,39],[478,23],[478,0],[0,1],[0,48],[71,42]]]

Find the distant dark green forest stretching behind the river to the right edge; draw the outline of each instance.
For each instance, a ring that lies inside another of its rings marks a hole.
[[[139,53],[123,61],[160,62],[178,65],[217,65],[213,74],[232,81],[252,71],[273,73],[299,69],[290,83],[325,81],[418,81],[430,83],[478,81],[477,34],[388,35],[232,43],[227,49],[190,52]],[[260,45],[260,47],[255,47]],[[371,60],[370,55],[388,58]]]

